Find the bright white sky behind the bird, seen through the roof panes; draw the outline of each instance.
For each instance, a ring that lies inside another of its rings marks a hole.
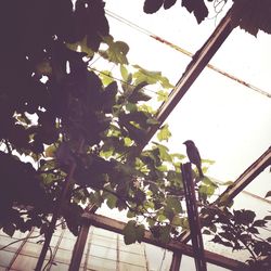
[[[197,25],[181,4],[150,15],[143,13],[143,0],[105,2],[106,10],[193,53],[224,15],[224,12],[219,14],[217,22],[205,20]],[[190,57],[107,17],[115,40],[124,40],[130,46],[128,57],[132,64],[160,70],[172,83],[180,79]],[[260,31],[255,38],[236,28],[210,63],[271,93],[270,47],[271,35]],[[220,181],[234,181],[271,145],[271,99],[205,68],[167,122],[172,132],[168,143],[170,150],[185,153],[182,142],[192,139],[202,158],[216,160],[208,175]],[[264,196],[271,190],[268,171],[264,170],[247,190]]]

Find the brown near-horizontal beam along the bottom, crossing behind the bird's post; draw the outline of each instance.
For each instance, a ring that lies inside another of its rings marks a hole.
[[[102,229],[116,232],[119,234],[124,234],[122,230],[126,225],[125,222],[121,222],[112,218],[107,218],[101,215],[96,215],[96,214],[86,212],[82,215],[82,217],[89,220],[89,222],[94,227],[102,228]],[[145,242],[147,244],[152,244],[162,248],[166,248],[171,251],[178,251],[178,253],[188,255],[190,257],[195,257],[191,245],[182,244],[177,241],[170,241],[169,243],[162,243],[153,237],[151,231],[145,231],[142,242]],[[208,262],[223,267],[223,268],[228,268],[230,270],[237,271],[237,270],[243,270],[242,268],[246,267],[241,261],[227,258],[219,254],[215,254],[215,253],[207,251],[207,250],[205,250],[204,254]]]

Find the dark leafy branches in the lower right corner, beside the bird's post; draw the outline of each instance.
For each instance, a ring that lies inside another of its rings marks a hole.
[[[247,250],[250,254],[247,260],[249,267],[270,269],[271,238],[262,238],[260,234],[270,223],[270,216],[257,219],[251,210],[231,211],[227,207],[207,207],[202,212],[207,215],[207,219],[203,221],[203,233],[214,235],[211,242],[231,247],[233,250]]]

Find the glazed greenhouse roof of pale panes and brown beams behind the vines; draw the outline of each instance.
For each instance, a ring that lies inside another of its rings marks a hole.
[[[232,208],[235,210],[249,208],[256,214],[257,219],[268,217],[271,202],[264,197],[271,191],[268,169],[271,165],[270,35],[261,30],[257,33],[255,29],[250,29],[249,34],[236,27],[231,1],[225,1],[222,8],[216,7],[221,10],[218,12],[214,9],[214,14],[209,14],[209,17],[199,25],[196,18],[181,7],[181,3],[177,3],[173,9],[160,9],[154,14],[145,14],[143,3],[144,1],[119,0],[117,3],[113,0],[105,1],[105,14],[109,22],[111,35],[115,40],[129,44],[129,64],[134,65],[133,67],[143,66],[147,70],[159,70],[175,86],[168,92],[162,90],[160,86],[145,88],[152,96],[150,104],[158,109],[158,121],[149,129],[146,138],[138,144],[138,150],[143,151],[155,140],[158,129],[168,124],[171,132],[171,137],[166,142],[168,150],[172,153],[185,153],[183,142],[193,140],[199,149],[205,175],[219,184],[217,194],[211,198],[214,199],[210,203],[211,207],[217,208],[221,203],[232,203]],[[211,7],[210,10],[212,10]],[[107,63],[106,67],[104,65],[105,61],[101,56],[90,62],[90,68],[96,74],[103,74],[103,70],[111,68],[111,75],[121,82],[119,70],[116,70],[118,65],[112,63]],[[163,95],[167,99],[160,99]],[[182,171],[185,171],[184,168]],[[184,178],[184,175],[182,177]],[[192,192],[195,194],[195,191]],[[151,259],[154,257],[152,255],[154,250],[149,248],[151,253],[146,256],[145,246],[152,244],[165,248],[165,251],[166,249],[172,251],[172,255],[170,253],[167,257],[157,253],[159,260],[162,257],[163,261],[167,258],[167,263],[164,262],[165,266],[162,269],[163,263],[159,270],[185,268],[184,263],[181,263],[182,254],[195,258],[196,270],[206,270],[205,261],[229,270],[243,268],[249,255],[244,251],[233,251],[221,243],[211,243],[208,234],[202,235],[201,223],[204,219],[208,219],[208,214],[198,215],[197,207],[190,210],[193,204],[196,206],[196,197],[193,193],[185,192],[188,205],[182,206],[189,212],[192,234],[186,229],[178,241],[163,243],[153,238],[153,233],[147,229],[144,230],[141,240],[142,246],[134,248],[133,251],[125,251],[124,242],[119,241],[118,234],[124,233],[129,221],[127,214],[122,211],[116,215],[105,206],[98,209],[95,205],[89,205],[82,215],[83,222],[77,241],[73,237],[73,242],[70,241],[73,244],[65,248],[64,254],[68,254],[68,260],[65,261],[60,260],[59,250],[63,249],[60,244],[66,233],[60,231],[57,236],[61,238],[59,243],[56,242],[57,247],[54,247],[53,260],[60,266],[63,264],[63,270],[67,270],[69,263],[69,270],[79,268],[81,270],[95,268],[98,270],[155,270],[155,268],[149,269],[147,266],[155,264]],[[116,220],[116,217],[119,219]],[[92,227],[91,233],[89,233],[90,227]],[[99,231],[102,232],[101,235],[109,234],[96,228],[117,233],[112,233],[114,241],[106,240],[105,245],[94,244],[98,241],[93,236],[99,235]],[[34,234],[35,231],[29,234]],[[268,238],[270,231],[269,221],[260,233],[262,237]],[[100,263],[88,266],[86,251],[92,249],[89,245],[92,244],[91,240],[94,240],[93,244],[101,250],[112,249],[103,257],[94,255],[93,251],[89,254],[94,257],[93,262],[104,261],[102,267]],[[72,246],[74,246],[73,254]],[[35,257],[36,264],[37,255],[29,255],[29,251],[24,254],[22,246],[15,257],[10,255],[15,253],[15,248],[12,247],[12,251],[9,249],[0,251],[0,259],[5,257],[1,256],[3,251],[11,258],[11,261],[4,266],[0,262],[0,267],[27,270],[29,266],[25,269],[16,266],[20,264],[17,261],[21,254]],[[126,253],[134,254],[137,249],[140,253],[136,261],[142,264],[131,262],[131,255],[129,255],[130,258],[127,256],[129,260],[125,258]],[[201,249],[205,249],[202,256]],[[122,253],[119,253],[120,250]],[[111,258],[112,255],[114,259]],[[52,261],[50,264],[51,270],[54,270]],[[208,270],[211,270],[210,266]]]

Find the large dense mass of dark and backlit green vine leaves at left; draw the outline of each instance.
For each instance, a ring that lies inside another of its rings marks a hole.
[[[201,22],[197,8],[194,14]],[[150,128],[160,125],[145,87],[159,85],[164,95],[172,86],[129,64],[128,44],[109,36],[104,2],[5,1],[0,33],[0,228],[9,235],[31,227],[46,233],[69,179],[60,215],[74,234],[82,206],[105,203],[131,218],[127,244],[140,242],[146,225],[162,242],[179,237],[188,229],[184,156],[163,144],[167,125],[144,147]],[[93,72],[96,55],[119,67],[121,81]],[[208,178],[196,181],[203,206],[216,189]]]

